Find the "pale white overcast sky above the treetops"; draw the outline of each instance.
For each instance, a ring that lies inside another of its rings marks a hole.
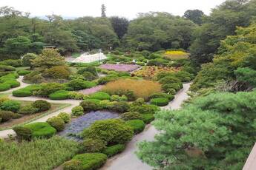
[[[31,16],[50,14],[63,17],[100,16],[101,4],[107,7],[107,16],[123,16],[129,19],[137,13],[149,11],[168,12],[183,16],[186,10],[203,10],[207,15],[211,9],[225,0],[0,0],[0,7],[10,6],[31,13]]]

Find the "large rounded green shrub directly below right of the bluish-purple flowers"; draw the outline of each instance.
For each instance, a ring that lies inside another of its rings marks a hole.
[[[123,120],[97,120],[89,128],[84,129],[82,137],[101,139],[109,144],[126,143],[133,137],[133,130]]]

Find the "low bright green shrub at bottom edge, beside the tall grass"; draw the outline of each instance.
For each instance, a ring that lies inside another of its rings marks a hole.
[[[107,160],[107,155],[101,153],[77,154],[72,160],[63,164],[64,170],[99,169]],[[71,162],[71,163],[70,163]],[[70,166],[71,165],[71,166]]]

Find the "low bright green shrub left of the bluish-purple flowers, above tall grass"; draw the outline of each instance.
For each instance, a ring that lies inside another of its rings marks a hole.
[[[23,127],[31,130],[32,138],[48,138],[56,134],[56,129],[46,122],[30,123]]]

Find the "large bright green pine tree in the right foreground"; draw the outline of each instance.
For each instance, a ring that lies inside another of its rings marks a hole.
[[[138,155],[157,169],[242,169],[256,139],[255,99],[255,92],[216,93],[161,111],[154,126],[163,133],[140,143]]]

